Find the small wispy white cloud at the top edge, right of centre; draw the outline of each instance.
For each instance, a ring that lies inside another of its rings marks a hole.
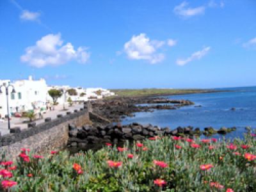
[[[184,1],[183,3],[175,6],[174,13],[182,17],[192,17],[195,15],[203,15],[205,12],[205,6],[198,6],[196,8],[188,7],[188,3]]]

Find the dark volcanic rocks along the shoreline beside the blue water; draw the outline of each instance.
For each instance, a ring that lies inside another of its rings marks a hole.
[[[143,105],[140,105],[143,104]],[[148,105],[147,105],[148,104]],[[236,128],[193,128],[178,127],[175,129],[160,128],[152,124],[142,125],[137,122],[122,125],[120,120],[134,112],[152,112],[152,110],[175,110],[180,107],[194,105],[189,100],[168,100],[166,98],[113,98],[111,100],[97,100],[86,103],[92,109],[90,120],[92,125],[80,128],[69,126],[67,147],[90,149],[95,145],[102,146],[106,143],[124,143],[125,140],[143,140],[150,137],[175,136],[175,137],[200,137],[211,136],[216,133],[225,135]],[[117,122],[117,124],[113,124]]]

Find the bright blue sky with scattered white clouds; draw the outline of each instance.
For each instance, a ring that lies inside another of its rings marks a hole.
[[[2,0],[0,79],[104,88],[255,85],[256,1]]]

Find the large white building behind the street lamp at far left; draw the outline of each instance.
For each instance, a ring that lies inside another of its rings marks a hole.
[[[9,88],[9,108],[10,115],[15,112],[24,112],[35,108],[45,108],[47,99],[47,85],[44,79],[33,80],[29,76],[28,80],[0,80],[0,85],[3,83],[13,85],[15,93],[12,93],[12,87]],[[8,114],[6,103],[6,90],[1,89],[0,94],[0,116],[4,117]]]

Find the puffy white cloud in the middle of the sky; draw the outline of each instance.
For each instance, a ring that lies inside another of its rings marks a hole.
[[[141,33],[125,43],[124,52],[129,59],[142,59],[155,64],[164,60],[164,54],[157,53],[157,48],[163,45],[164,41],[150,40],[145,33]]]

